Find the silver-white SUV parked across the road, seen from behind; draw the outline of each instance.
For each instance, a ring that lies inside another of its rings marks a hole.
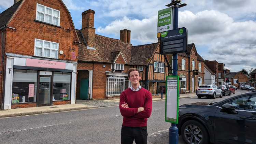
[[[219,89],[216,85],[200,85],[197,89],[197,97],[200,99],[201,97],[212,97],[216,98],[219,96],[222,98],[222,90]]]

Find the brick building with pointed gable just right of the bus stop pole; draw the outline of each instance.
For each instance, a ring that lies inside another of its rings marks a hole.
[[[172,60],[172,55],[167,57]],[[181,74],[182,78],[180,82],[181,93],[185,91],[189,93],[196,92],[196,88],[204,84],[204,59],[197,53],[194,43],[187,45],[187,52],[178,54],[177,62],[177,75]],[[196,75],[193,74],[193,71]]]

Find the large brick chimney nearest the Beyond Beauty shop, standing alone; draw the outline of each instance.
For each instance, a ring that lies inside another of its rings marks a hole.
[[[82,13],[82,33],[87,46],[95,46],[94,10],[87,10]]]

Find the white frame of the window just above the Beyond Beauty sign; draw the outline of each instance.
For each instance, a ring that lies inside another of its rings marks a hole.
[[[42,46],[37,46],[36,42],[37,41],[42,41]],[[45,42],[50,43],[50,47],[45,47]],[[53,44],[57,44],[57,48],[52,48]],[[36,55],[36,49],[37,48],[41,48],[42,49],[42,53],[41,55]],[[48,58],[58,58],[59,57],[59,43],[55,43],[55,42],[51,42],[51,41],[45,41],[45,40],[40,40],[40,39],[35,39],[35,43],[34,43],[34,56],[40,56],[40,57],[46,57],[44,56],[44,50],[45,49],[49,49],[50,50],[50,56]],[[57,53],[57,57],[52,57],[52,51],[56,51]]]

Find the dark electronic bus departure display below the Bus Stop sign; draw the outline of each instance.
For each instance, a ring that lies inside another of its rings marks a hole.
[[[161,32],[160,53],[162,55],[187,51],[187,29],[179,28]]]

